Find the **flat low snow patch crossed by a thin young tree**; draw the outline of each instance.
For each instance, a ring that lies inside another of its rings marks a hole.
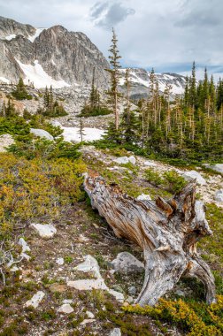
[[[79,127],[61,127],[64,131],[63,135],[65,138],[65,141],[81,141],[81,136],[79,134]],[[100,140],[102,136],[104,135],[105,131],[99,128],[90,128],[86,127],[84,128],[83,133],[83,141],[94,141],[94,140]]]

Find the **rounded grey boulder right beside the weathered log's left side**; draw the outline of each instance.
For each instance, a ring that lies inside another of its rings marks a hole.
[[[143,263],[128,252],[119,253],[111,264],[114,270],[120,273],[141,272],[144,270]]]

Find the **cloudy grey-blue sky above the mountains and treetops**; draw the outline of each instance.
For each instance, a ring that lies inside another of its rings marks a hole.
[[[108,56],[111,27],[123,66],[188,73],[195,60],[223,77],[223,0],[0,0],[0,15],[81,31]]]

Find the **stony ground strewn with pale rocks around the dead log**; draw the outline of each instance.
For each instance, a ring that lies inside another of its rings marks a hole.
[[[131,153],[123,157],[123,153],[92,146],[81,151],[89,170],[108,181],[119,181],[129,195],[141,195],[142,199],[170,195],[143,178],[149,167],[160,174],[173,169],[188,172]],[[223,188],[222,176],[201,168],[197,171],[199,198],[222,207],[223,202],[215,200],[216,192]],[[151,317],[123,315],[121,306],[133,303],[142,287],[142,251],[117,239],[88,202],[76,203],[62,220],[46,224],[28,225],[20,237],[26,240],[19,243],[23,258],[12,265],[12,285],[3,289],[1,298],[9,325],[14,321],[23,334],[32,336],[181,334]],[[126,254],[119,255],[123,252]],[[193,288],[179,282],[165,295],[181,296],[193,297]]]

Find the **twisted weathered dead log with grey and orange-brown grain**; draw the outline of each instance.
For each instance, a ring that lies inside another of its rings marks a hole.
[[[84,187],[92,207],[116,236],[135,241],[143,250],[145,277],[137,303],[154,305],[182,276],[201,280],[206,301],[216,301],[211,270],[196,253],[197,241],[211,230],[204,204],[195,200],[195,182],[171,200],[158,197],[156,202],[124,195],[117,185],[106,185],[100,176],[87,177]]]

